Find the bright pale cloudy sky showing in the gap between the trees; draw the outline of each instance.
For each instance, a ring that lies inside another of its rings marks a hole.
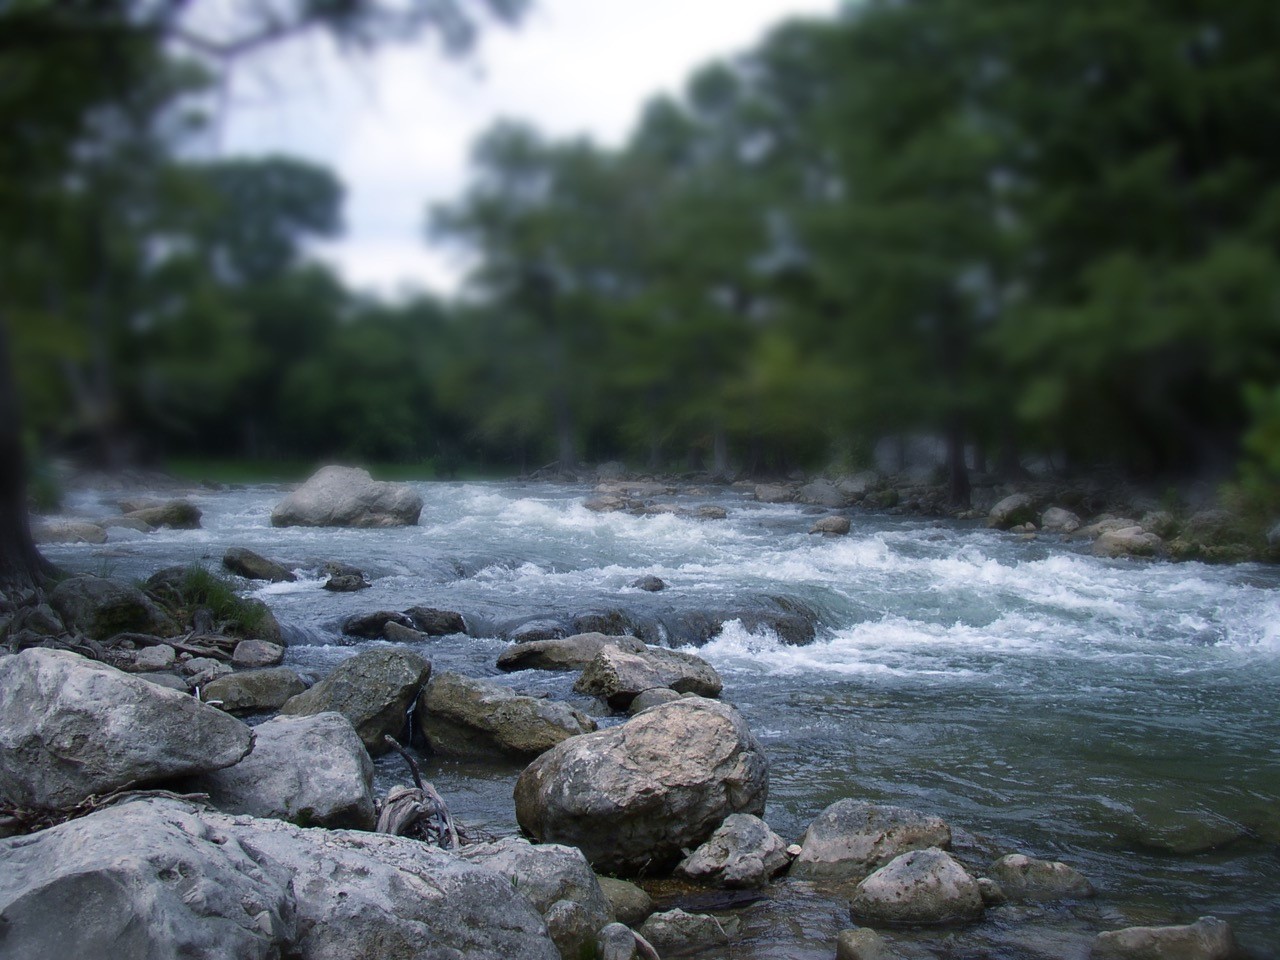
[[[317,253],[353,287],[394,296],[452,293],[463,255],[429,246],[429,205],[466,187],[472,140],[499,118],[547,134],[622,143],[652,96],[678,93],[698,67],[750,49],[792,15],[836,0],[534,0],[515,31],[484,33],[449,60],[429,41],[370,58],[310,38],[241,63],[216,148],[289,154],[347,186],[346,232]]]

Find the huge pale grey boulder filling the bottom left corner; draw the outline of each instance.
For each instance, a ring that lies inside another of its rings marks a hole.
[[[0,841],[0,860],[23,960],[559,957],[506,877],[404,837],[155,799]]]

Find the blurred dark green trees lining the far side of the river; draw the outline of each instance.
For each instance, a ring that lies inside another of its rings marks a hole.
[[[27,415],[102,457],[502,468],[780,472],[928,434],[957,502],[1032,456],[1274,495],[1277,50],[1274,0],[849,4],[620,148],[493,128],[428,218],[466,294],[379,302],[306,256],[334,177],[187,159],[209,70],[150,47],[91,124],[0,147],[36,151],[3,201]],[[31,109],[101,81],[32,59],[61,79]]]

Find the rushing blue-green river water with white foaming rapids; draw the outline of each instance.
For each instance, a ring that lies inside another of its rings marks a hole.
[[[477,676],[497,676],[499,636],[535,617],[622,612],[646,639],[678,643],[668,626],[684,614],[806,611],[810,644],[731,620],[696,650],[769,755],[776,831],[797,837],[846,796],[893,803],[943,817],[979,865],[1015,850],[1060,859],[1101,891],[1087,909],[1006,908],[969,931],[904,933],[904,955],[1076,956],[1098,929],[1213,914],[1254,955],[1280,956],[1280,568],[1103,561],[1057,538],[872,513],[826,539],[806,532],[822,511],[731,488],[662,498],[719,504],[718,521],[593,513],[576,486],[419,489],[416,527],[274,530],[280,490],[248,488],[197,493],[198,531],[113,530],[104,547],[47,553],[147,576],[242,545],[310,570],[256,595],[287,627],[287,662],[315,675],[360,648],[338,623],[374,609],[462,612],[479,636],[424,653]],[[76,506],[110,512],[93,495]],[[361,567],[372,589],[321,590],[326,559]],[[667,589],[630,586],[646,573]],[[503,682],[572,698],[571,676]],[[402,777],[397,764],[380,764],[383,782]],[[516,829],[518,768],[426,772],[461,819]],[[739,911],[735,957],[829,957],[844,909],[787,897]]]

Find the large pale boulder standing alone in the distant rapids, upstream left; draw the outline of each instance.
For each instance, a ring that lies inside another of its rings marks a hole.
[[[413,526],[422,498],[360,467],[321,467],[271,511],[271,526]]]

